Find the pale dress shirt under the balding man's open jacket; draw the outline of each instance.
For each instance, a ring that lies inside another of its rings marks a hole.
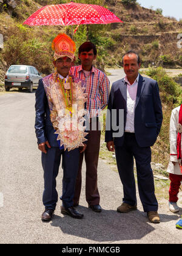
[[[135,102],[136,102],[136,93],[138,88],[139,74],[136,77],[135,82],[130,85],[127,76],[124,78],[124,81],[127,83],[127,114],[126,114],[126,127],[125,132],[135,132],[134,120],[135,120]]]

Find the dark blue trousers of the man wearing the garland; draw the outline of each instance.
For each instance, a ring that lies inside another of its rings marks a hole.
[[[64,151],[59,148],[46,148],[47,154],[42,153],[42,167],[44,169],[44,193],[42,197],[45,209],[55,210],[58,202],[56,191],[56,177],[58,176],[59,165],[62,156],[62,205],[69,208],[73,205],[75,193],[76,176],[79,165],[79,149]],[[60,186],[61,187],[61,186]]]

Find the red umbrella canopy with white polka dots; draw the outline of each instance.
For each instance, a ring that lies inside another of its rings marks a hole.
[[[68,4],[46,5],[33,13],[23,24],[70,26],[122,22],[110,10],[100,5],[69,2]]]

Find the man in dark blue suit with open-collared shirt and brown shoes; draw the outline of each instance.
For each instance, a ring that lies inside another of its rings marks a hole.
[[[163,113],[157,81],[141,76],[138,73],[140,65],[140,57],[136,52],[129,51],[124,54],[123,68],[126,77],[113,83],[110,91],[106,142],[107,149],[115,151],[118,172],[123,183],[123,204],[117,211],[126,213],[137,209],[134,157],[144,212],[147,212],[151,222],[159,223],[158,202],[150,166],[150,146],[153,146],[160,133]]]

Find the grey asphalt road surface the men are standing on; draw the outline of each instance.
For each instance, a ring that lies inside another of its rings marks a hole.
[[[109,79],[123,76],[121,70]],[[78,211],[84,219],[72,219],[60,213],[58,201],[55,216],[42,222],[44,187],[41,152],[35,137],[35,90],[0,94],[0,243],[1,244],[146,244],[181,243],[181,230],[175,223],[182,214],[170,213],[167,200],[159,205],[160,224],[151,224],[138,197],[138,210],[117,213],[123,189],[118,173],[99,160],[98,188],[103,212],[87,208],[85,199],[85,166],[83,189]],[[57,190],[61,196],[62,169]],[[137,195],[138,196],[138,195]],[[180,205],[182,206],[182,205]]]

